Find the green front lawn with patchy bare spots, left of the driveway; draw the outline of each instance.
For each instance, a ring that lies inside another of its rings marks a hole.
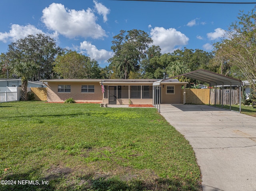
[[[0,179],[16,180],[1,191],[201,190],[192,147],[155,108],[99,104],[0,103]]]

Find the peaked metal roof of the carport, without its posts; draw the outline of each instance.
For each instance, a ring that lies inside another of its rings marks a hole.
[[[242,81],[239,79],[234,79],[232,77],[224,76],[221,74],[217,74],[214,72],[210,72],[204,69],[192,71],[186,74],[181,74],[178,76],[171,77],[170,79],[180,77],[180,76],[185,76],[188,78],[196,79],[199,81],[207,82],[210,84],[210,86],[214,85],[237,85],[241,86]],[[166,79],[167,80],[167,79]]]

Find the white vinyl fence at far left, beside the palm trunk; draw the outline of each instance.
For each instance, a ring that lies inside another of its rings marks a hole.
[[[20,88],[0,87],[0,102],[20,100]]]

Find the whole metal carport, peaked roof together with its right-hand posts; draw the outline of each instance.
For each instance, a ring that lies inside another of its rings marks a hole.
[[[181,74],[178,76],[171,77],[170,79],[174,79],[180,76],[185,76],[188,78],[196,79],[199,81],[203,81],[209,84],[209,86],[215,86],[215,106],[216,106],[216,87],[222,86],[222,90],[224,85],[230,86],[230,93],[232,85],[236,85],[239,87],[239,111],[241,112],[241,87],[243,85],[242,81],[239,79],[235,79],[232,77],[228,77],[225,75],[221,75],[218,73],[210,72],[204,69],[192,71],[189,73]],[[210,91],[211,92],[211,91]],[[210,100],[209,100],[210,105]],[[222,108],[223,108],[223,91],[222,91]],[[230,110],[231,110],[231,95],[230,95]]]

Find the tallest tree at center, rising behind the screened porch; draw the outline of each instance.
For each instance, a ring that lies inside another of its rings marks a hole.
[[[140,61],[145,56],[152,39],[142,30],[121,30],[113,37],[111,49],[114,56],[109,59],[118,78],[127,79],[130,71],[136,72],[140,68]]]

